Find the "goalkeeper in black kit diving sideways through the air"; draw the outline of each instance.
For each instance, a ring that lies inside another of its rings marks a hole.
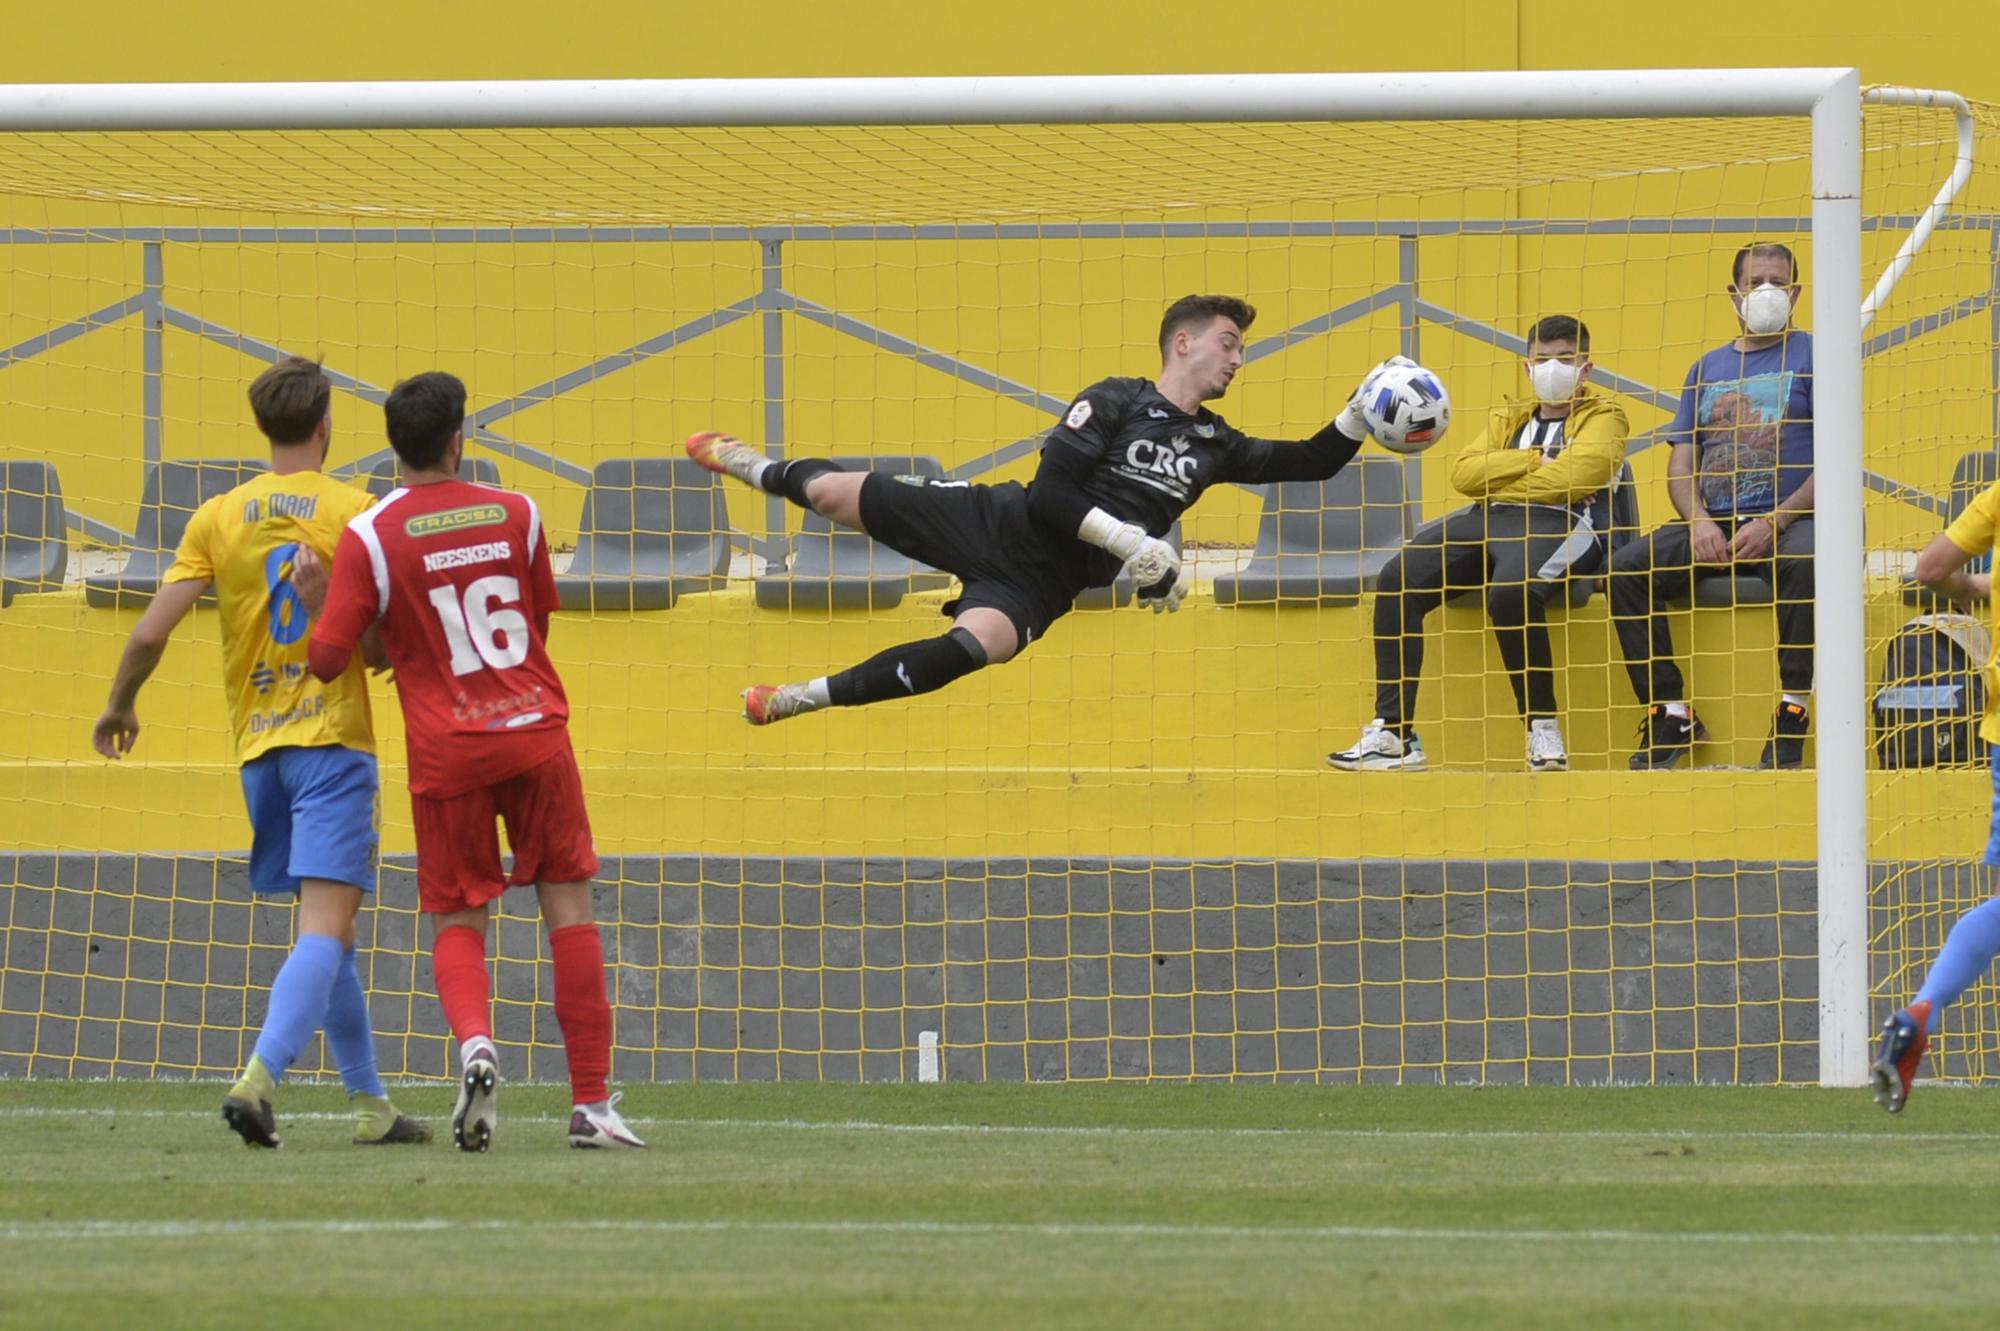
[[[1326,480],[1368,438],[1360,402],[1310,440],[1256,440],[1204,404],[1244,366],[1256,310],[1234,296],[1184,296],[1160,320],[1160,378],[1086,388],[1050,430],[1026,486],[846,472],[822,458],[772,462],[726,436],[698,434],[688,456],[710,472],[784,496],[830,522],[954,574],[952,628],[806,683],[758,683],[744,717],[768,725],[820,707],[930,693],[1012,660],[1066,616],[1080,592],[1124,570],[1138,602],[1172,612],[1188,594],[1174,522],[1210,486]]]

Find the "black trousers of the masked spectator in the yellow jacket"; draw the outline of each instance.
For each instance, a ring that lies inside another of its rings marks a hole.
[[[1570,572],[1602,558],[1562,508],[1474,504],[1418,528],[1376,584],[1376,715],[1406,725],[1424,673],[1424,620],[1454,592],[1486,598],[1500,660],[1524,717],[1556,715],[1544,610]]]

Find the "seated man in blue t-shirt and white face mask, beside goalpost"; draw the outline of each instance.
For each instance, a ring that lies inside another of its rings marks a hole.
[[[1694,362],[1668,426],[1666,492],[1678,522],[1616,554],[1612,620],[1646,703],[1632,767],[1674,767],[1708,729],[1674,664],[1664,608],[1700,572],[1754,574],[1778,594],[1780,697],[1760,767],[1804,761],[1812,691],[1812,334],[1792,328],[1798,260],[1736,252],[1730,304],[1742,334]]]

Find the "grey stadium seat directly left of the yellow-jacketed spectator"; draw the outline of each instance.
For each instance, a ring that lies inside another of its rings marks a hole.
[[[1256,552],[1216,580],[1218,606],[1352,606],[1402,548],[1402,464],[1356,458],[1326,482],[1264,488]]]

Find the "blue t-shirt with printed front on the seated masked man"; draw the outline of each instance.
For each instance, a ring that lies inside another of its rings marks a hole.
[[[1712,518],[1778,508],[1812,476],[1812,334],[1702,356],[1688,370],[1666,440],[1694,444],[1694,476]]]

